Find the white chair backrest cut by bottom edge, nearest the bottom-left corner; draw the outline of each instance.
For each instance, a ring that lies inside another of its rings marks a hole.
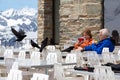
[[[11,69],[7,80],[22,80],[22,71]]]

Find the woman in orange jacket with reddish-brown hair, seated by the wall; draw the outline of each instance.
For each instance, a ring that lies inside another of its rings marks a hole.
[[[83,33],[82,33],[84,38],[83,40],[81,40],[81,38],[78,38],[78,42],[75,43],[74,45],[74,49],[79,49],[79,47],[84,48],[85,46],[91,45],[94,40],[92,39],[92,34],[91,31],[89,29],[86,29]]]

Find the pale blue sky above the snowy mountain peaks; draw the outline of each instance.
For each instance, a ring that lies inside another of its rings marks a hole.
[[[22,9],[23,7],[30,7],[37,9],[38,0],[0,0],[0,11],[10,8]]]

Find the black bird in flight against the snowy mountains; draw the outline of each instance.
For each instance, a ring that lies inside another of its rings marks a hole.
[[[11,27],[11,31],[17,37],[15,41],[20,42],[26,37],[25,32],[22,29],[20,29],[19,32],[17,32],[14,28]]]

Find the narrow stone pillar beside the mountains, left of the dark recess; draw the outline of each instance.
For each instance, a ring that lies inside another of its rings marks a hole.
[[[38,0],[38,42],[53,36],[52,0]]]

